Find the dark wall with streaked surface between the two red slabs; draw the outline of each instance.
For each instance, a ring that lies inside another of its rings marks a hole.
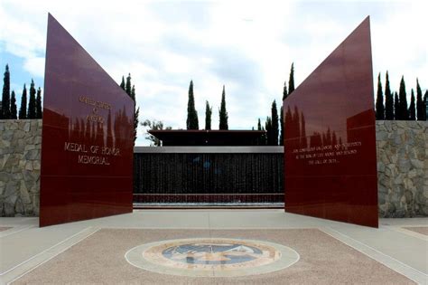
[[[135,153],[135,203],[283,203],[282,153]]]

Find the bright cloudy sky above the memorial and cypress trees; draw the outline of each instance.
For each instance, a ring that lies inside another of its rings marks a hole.
[[[298,85],[367,15],[375,78],[388,70],[398,90],[404,75],[410,94],[418,77],[426,90],[427,3],[2,0],[0,68],[9,63],[18,100],[32,78],[42,87],[50,12],[117,82],[131,72],[140,121],[186,128],[193,80],[200,128],[206,100],[218,128],[223,84],[229,128],[252,128],[281,101],[292,62]],[[143,128],[136,144],[148,145]]]

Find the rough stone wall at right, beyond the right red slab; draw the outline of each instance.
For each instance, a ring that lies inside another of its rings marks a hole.
[[[428,216],[428,121],[377,121],[379,216]]]

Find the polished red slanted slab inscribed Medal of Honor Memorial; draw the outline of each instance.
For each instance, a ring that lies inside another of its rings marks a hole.
[[[40,225],[132,212],[134,102],[49,14]]]

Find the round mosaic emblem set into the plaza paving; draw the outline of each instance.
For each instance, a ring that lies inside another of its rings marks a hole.
[[[199,238],[145,243],[126,252],[132,265],[182,276],[244,276],[279,271],[299,260],[293,249],[273,242]]]

